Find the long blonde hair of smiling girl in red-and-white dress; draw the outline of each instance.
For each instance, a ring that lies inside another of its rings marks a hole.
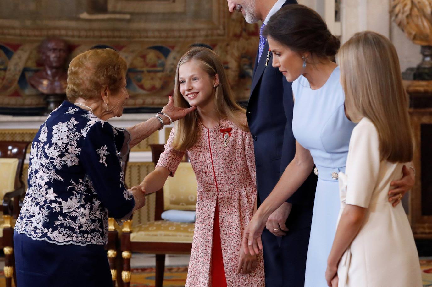
[[[201,69],[203,69],[211,79],[213,79],[216,75],[219,77],[219,85],[216,86],[214,95],[214,109],[219,118],[230,120],[239,128],[248,131],[249,128],[245,120],[246,110],[235,101],[220,58],[215,52],[208,48],[192,48],[178,61],[177,70],[175,72],[174,104],[177,107],[190,107],[190,105],[180,93],[178,69],[181,65],[191,60],[196,60],[199,62]],[[191,148],[195,142],[197,142],[198,120],[198,112],[197,110],[194,110],[190,114],[187,114],[186,117],[178,120],[175,123],[176,130],[175,137],[172,142],[173,148],[177,150],[185,150]]]

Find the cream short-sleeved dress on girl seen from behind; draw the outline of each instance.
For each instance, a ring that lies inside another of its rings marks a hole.
[[[378,145],[375,125],[363,118],[349,142],[346,173],[339,173],[340,212],[346,204],[367,211],[340,260],[339,287],[422,287],[407,215],[401,204],[388,202],[390,183],[402,177],[403,163],[380,161]]]

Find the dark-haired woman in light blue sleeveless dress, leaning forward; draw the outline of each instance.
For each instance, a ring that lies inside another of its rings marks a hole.
[[[314,168],[318,184],[305,287],[325,287],[327,257],[340,210],[337,173],[345,171],[349,139],[355,126],[346,117],[340,69],[332,61],[340,43],[328,31],[321,16],[302,5],[286,5],[280,9],[270,18],[264,35],[273,52],[273,66],[292,82],[296,153],[246,228],[243,243],[252,254],[262,249],[260,235],[268,216],[298,189]],[[410,184],[400,187],[397,197],[411,187]]]

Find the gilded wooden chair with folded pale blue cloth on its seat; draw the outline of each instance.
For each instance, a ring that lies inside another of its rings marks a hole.
[[[152,161],[156,165],[163,145],[150,145]],[[156,283],[162,287],[165,271],[165,254],[190,254],[194,223],[181,223],[162,220],[164,210],[193,210],[197,200],[197,182],[187,156],[180,163],[175,177],[168,178],[165,186],[156,192],[155,221],[131,227],[131,220],[124,222],[121,236],[123,257],[122,280],[130,286],[131,252],[156,254]]]

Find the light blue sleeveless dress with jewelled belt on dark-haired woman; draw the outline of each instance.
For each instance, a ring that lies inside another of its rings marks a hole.
[[[315,174],[318,173],[305,287],[327,287],[324,274],[340,210],[336,175],[345,172],[349,138],[355,126],[345,115],[345,95],[339,77],[337,67],[318,90],[312,90],[303,76],[292,83],[292,131],[299,144],[311,152]]]

